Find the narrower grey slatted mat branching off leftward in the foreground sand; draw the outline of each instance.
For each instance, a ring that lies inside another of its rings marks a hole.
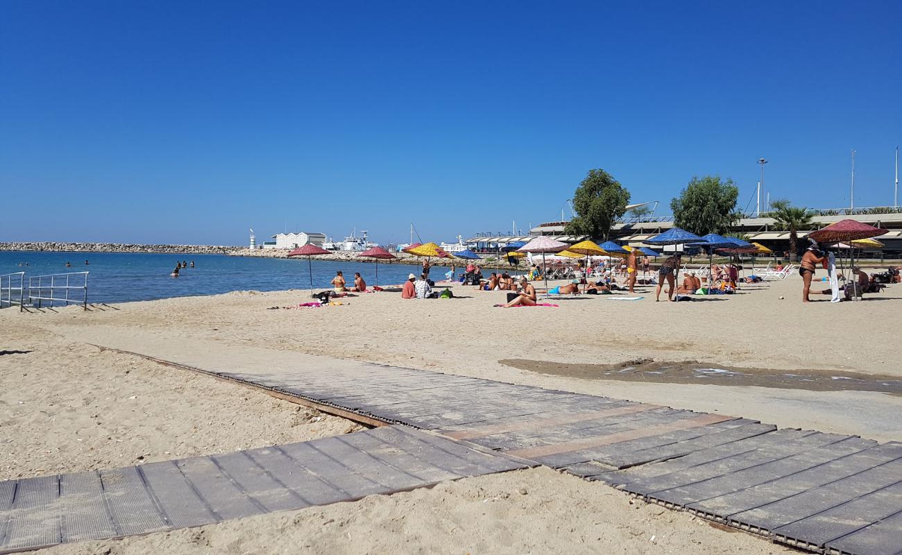
[[[137,467],[0,482],[0,553],[102,540],[391,494],[524,468],[388,426]]]

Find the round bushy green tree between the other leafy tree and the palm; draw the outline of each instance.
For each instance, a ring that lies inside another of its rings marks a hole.
[[[733,180],[706,175],[692,178],[677,199],[670,201],[674,224],[697,236],[723,235],[739,221],[736,199],[739,188]]]

